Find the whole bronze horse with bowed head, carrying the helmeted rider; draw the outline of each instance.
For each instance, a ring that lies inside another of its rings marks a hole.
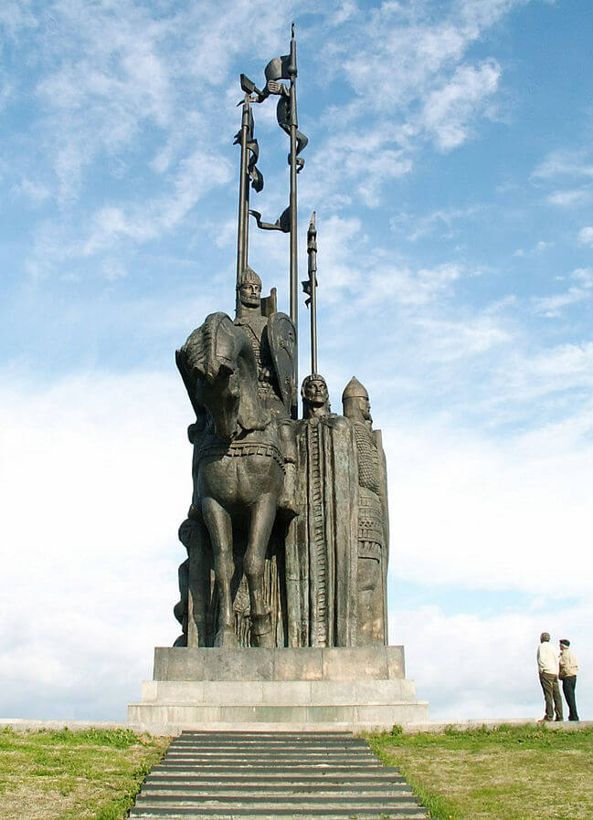
[[[246,546],[251,642],[274,647],[264,569],[284,484],[278,425],[258,393],[258,367],[246,334],[226,313],[211,313],[175,354],[196,411],[194,494],[189,519],[206,527],[218,596],[215,647],[237,647],[231,584],[234,533]],[[209,573],[208,573],[209,576]],[[240,573],[239,573],[240,578]],[[198,603],[204,606],[204,602]]]

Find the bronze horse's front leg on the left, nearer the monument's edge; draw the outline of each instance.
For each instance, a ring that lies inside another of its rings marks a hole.
[[[233,577],[233,528],[227,510],[215,499],[202,499],[202,515],[212,542],[214,573],[218,587],[220,611],[218,614],[217,636],[215,647],[237,647],[235,635],[235,616],[230,594],[230,581]]]

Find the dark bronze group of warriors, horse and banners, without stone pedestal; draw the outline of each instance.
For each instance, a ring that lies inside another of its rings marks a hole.
[[[259,90],[241,75],[236,316],[212,313],[176,353],[196,419],[194,490],[179,531],[175,647],[370,647],[387,645],[387,472],[365,387],[354,377],[343,415],[331,412],[317,363],[317,232],[307,234],[311,373],[297,402],[296,46],[270,61]],[[287,87],[281,82],[289,80]],[[289,205],[275,223],[249,209],[263,177],[254,106],[278,97],[290,136]],[[249,215],[290,234],[290,316],[276,289],[262,298],[249,267]]]

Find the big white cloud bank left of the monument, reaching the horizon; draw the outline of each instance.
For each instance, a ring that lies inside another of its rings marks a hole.
[[[0,711],[122,720],[178,634],[190,405],[150,372],[5,379],[2,398]]]

